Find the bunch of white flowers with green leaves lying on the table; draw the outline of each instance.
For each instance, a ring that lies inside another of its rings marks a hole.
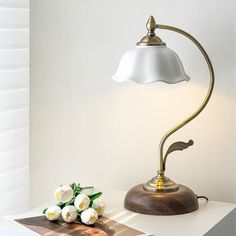
[[[101,192],[87,195],[85,190],[93,187],[81,187],[80,184],[72,183],[69,186],[62,185],[55,190],[57,205],[43,210],[50,221],[58,220],[60,217],[71,223],[76,220],[93,225],[105,209],[103,200],[99,197]]]

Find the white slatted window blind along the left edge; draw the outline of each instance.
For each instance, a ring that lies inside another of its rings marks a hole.
[[[0,0],[0,216],[28,208],[29,0]]]

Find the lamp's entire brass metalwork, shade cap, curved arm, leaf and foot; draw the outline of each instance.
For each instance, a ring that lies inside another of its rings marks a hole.
[[[210,97],[212,95],[212,91],[214,88],[214,83],[215,83],[215,76],[214,76],[214,69],[211,63],[211,60],[206,53],[205,49],[202,47],[202,45],[198,42],[197,39],[195,39],[192,35],[189,33],[183,31],[182,29],[173,27],[173,26],[168,26],[168,25],[159,25],[156,24],[155,19],[153,16],[150,16],[146,28],[148,30],[147,35],[144,36],[138,43],[138,46],[165,46],[166,44],[155,34],[156,29],[164,29],[164,30],[170,30],[174,31],[176,33],[179,33],[185,37],[187,37],[190,41],[192,41],[195,46],[200,50],[201,54],[203,55],[208,69],[209,69],[209,75],[210,75],[210,84],[209,88],[206,94],[205,99],[203,100],[202,104],[199,106],[199,108],[191,114],[189,117],[187,117],[184,121],[180,122],[178,125],[176,125],[174,128],[169,130],[161,139],[160,144],[159,144],[159,167],[158,167],[158,172],[157,176],[152,178],[150,181],[148,181],[146,184],[144,184],[144,189],[148,191],[153,191],[153,192],[169,192],[169,191],[176,191],[178,189],[178,185],[170,180],[168,177],[164,175],[165,169],[166,169],[166,160],[167,156],[174,152],[174,151],[182,151],[190,146],[193,145],[193,140],[189,140],[188,142],[182,142],[178,141],[170,145],[170,147],[167,149],[166,154],[163,154],[163,148],[166,140],[177,130],[188,124],[191,120],[193,120],[195,117],[197,117],[203,109],[206,107],[208,104]]]

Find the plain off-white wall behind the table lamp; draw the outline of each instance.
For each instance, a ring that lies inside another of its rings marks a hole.
[[[182,58],[189,83],[140,86],[111,80],[149,15],[203,44],[215,67],[207,109],[168,142],[166,174],[211,200],[236,202],[234,0],[31,1],[31,205],[72,181],[128,189],[153,177],[162,135],[193,112],[209,78],[198,50],[157,31]]]

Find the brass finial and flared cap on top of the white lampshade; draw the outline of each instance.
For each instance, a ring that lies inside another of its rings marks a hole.
[[[146,36],[144,36],[137,45],[139,46],[165,46],[166,44],[162,42],[162,40],[156,36],[155,30],[156,30],[156,21],[153,16],[150,16],[146,28],[148,30],[148,33]]]

